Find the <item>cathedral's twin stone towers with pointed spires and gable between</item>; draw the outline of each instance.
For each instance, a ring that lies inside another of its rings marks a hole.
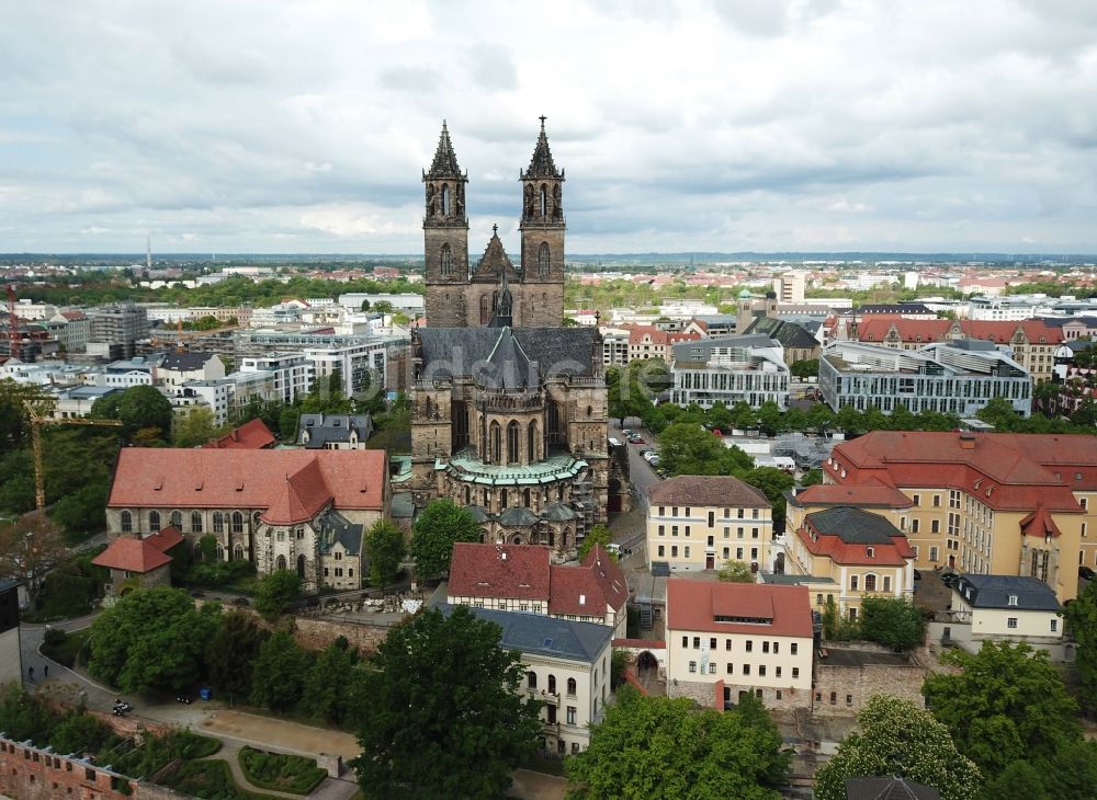
[[[507,315],[516,328],[559,328],[564,322],[564,171],[557,170],[541,117],[529,169],[519,171],[522,183],[520,265],[516,267],[498,232],[484,255],[470,270],[468,216],[465,184],[442,123],[430,170],[423,172],[426,210],[422,220],[427,260],[426,312],[431,328],[486,325],[496,311],[500,286],[512,298]]]

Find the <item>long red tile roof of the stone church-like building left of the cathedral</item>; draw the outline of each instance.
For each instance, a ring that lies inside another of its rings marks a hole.
[[[323,502],[333,499],[336,508],[381,511],[385,461],[384,450],[127,447],[118,454],[108,505],[270,510],[281,504],[278,518],[289,518],[317,507],[323,496]]]

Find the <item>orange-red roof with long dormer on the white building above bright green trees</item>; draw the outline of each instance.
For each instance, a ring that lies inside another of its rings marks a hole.
[[[717,622],[716,616],[769,622]],[[807,587],[671,579],[667,581],[667,636],[671,630],[811,639]]]

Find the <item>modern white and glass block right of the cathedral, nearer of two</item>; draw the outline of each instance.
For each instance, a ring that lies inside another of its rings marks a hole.
[[[789,367],[781,345],[766,335],[722,336],[676,344],[672,402],[709,409],[716,402],[758,408],[789,405]]]

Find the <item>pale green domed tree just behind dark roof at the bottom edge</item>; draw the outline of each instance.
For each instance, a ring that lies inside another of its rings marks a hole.
[[[937,789],[942,800],[970,800],[979,790],[979,768],[960,754],[948,728],[913,702],[875,695],[857,723],[860,730],[815,773],[817,800],[845,800],[846,778],[896,772]]]

